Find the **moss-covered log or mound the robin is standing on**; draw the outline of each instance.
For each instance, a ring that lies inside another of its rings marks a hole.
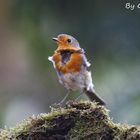
[[[140,127],[114,123],[94,102],[71,101],[1,130],[0,140],[140,140]]]

